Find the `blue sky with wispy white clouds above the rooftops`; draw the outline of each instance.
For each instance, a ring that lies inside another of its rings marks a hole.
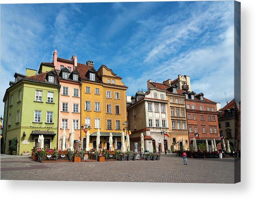
[[[188,75],[192,89],[225,106],[234,98],[234,2],[1,5],[2,99],[14,73],[58,57],[105,64],[129,87]]]

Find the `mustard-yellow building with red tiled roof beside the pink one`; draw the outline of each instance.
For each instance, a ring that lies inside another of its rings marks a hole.
[[[100,130],[100,143],[109,149],[109,134],[113,136],[113,149],[121,147],[121,133],[126,121],[126,89],[122,78],[107,66],[98,71],[92,61],[77,63],[83,80],[81,87],[81,126],[90,126],[89,148],[96,148],[96,134]],[[115,144],[115,140],[117,144]],[[86,146],[86,133],[81,130],[81,147]]]

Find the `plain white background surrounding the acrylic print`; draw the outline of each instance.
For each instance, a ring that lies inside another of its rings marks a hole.
[[[118,2],[112,0],[111,2]],[[131,2],[131,0],[128,0]],[[53,2],[71,2],[53,0]],[[85,2],[76,0],[75,2]],[[109,2],[91,0],[88,2]],[[255,56],[256,1],[241,2],[241,183],[120,183],[66,181],[0,181],[1,198],[254,198],[255,197]],[[21,3],[0,0],[0,3]],[[52,3],[52,1],[22,1],[22,3]],[[111,168],[109,168],[111,169]],[[133,172],[132,168],[130,169]],[[221,168],[219,168],[221,170]],[[200,172],[200,171],[195,171]],[[53,174],[54,175],[54,174]],[[216,179],[217,183],[217,179]]]

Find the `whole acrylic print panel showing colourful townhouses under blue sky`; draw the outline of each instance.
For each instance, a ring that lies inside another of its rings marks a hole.
[[[1,179],[240,181],[239,2],[4,4],[1,41]]]

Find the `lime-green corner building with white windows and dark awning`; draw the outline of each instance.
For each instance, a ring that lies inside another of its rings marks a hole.
[[[26,69],[26,75],[15,73],[4,95],[3,152],[9,152],[11,141],[17,142],[21,155],[44,136],[44,148],[57,147],[59,79],[54,71],[36,75]]]

